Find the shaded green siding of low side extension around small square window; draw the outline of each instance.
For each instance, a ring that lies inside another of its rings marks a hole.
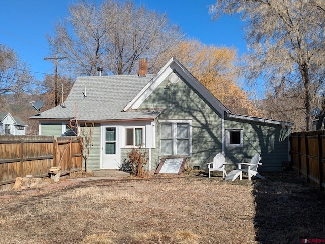
[[[280,171],[282,161],[288,161],[288,129],[281,125],[245,122],[227,119],[225,129],[243,129],[243,146],[225,146],[227,170],[236,168],[236,163],[250,162],[256,154],[261,155],[259,171]]]

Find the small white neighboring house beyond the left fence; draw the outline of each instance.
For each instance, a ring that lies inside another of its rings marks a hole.
[[[25,135],[27,124],[10,113],[0,112],[0,134]]]

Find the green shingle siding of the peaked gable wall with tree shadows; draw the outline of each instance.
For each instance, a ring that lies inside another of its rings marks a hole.
[[[139,109],[163,108],[158,120],[182,119],[192,120],[192,156],[187,160],[190,167],[206,166],[217,153],[221,153],[222,131],[221,115],[214,111],[199,94],[180,77],[176,84],[164,89],[169,82],[169,76],[150,94]],[[159,153],[159,123],[156,123],[156,149],[152,153],[152,167],[156,167]]]

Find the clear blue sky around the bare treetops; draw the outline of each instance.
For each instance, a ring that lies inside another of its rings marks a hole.
[[[30,65],[38,79],[44,73],[54,73],[49,57],[46,33],[51,34],[53,23],[68,16],[68,6],[75,0],[3,0],[0,9],[0,43],[14,49],[22,60]],[[101,2],[96,0],[96,2]],[[234,47],[238,54],[246,52],[241,31],[242,22],[236,17],[224,16],[212,21],[208,5],[214,0],[136,0],[150,10],[167,13],[171,22],[177,24],[188,37],[202,43]]]

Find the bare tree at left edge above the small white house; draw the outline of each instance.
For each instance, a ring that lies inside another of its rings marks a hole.
[[[0,44],[0,95],[29,91],[32,80],[27,64],[13,49]]]

